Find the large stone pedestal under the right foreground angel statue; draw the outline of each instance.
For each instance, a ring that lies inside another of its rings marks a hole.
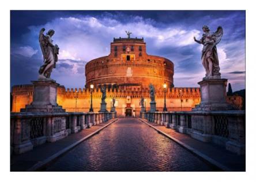
[[[226,101],[227,79],[205,79],[198,82],[201,103],[193,111],[223,111],[234,109]]]

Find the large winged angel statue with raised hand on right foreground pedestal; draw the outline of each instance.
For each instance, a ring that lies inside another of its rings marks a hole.
[[[202,38],[200,40],[197,40],[194,37],[194,40],[197,43],[204,45],[204,47],[202,48],[201,59],[206,74],[203,79],[221,78],[216,45],[220,42],[221,37],[223,36],[223,28],[219,26],[216,32],[211,33],[208,26],[204,25],[202,27],[202,31],[204,32]]]

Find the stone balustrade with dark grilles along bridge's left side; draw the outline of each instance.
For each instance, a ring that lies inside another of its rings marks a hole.
[[[55,142],[67,135],[116,117],[115,112],[63,112],[10,114],[10,151],[20,154],[45,142]]]

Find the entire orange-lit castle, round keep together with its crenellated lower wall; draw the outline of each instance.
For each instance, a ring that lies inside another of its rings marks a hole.
[[[198,88],[174,87],[174,63],[161,56],[148,55],[144,39],[137,37],[113,40],[111,52],[107,56],[93,59],[85,65],[85,88],[57,89],[57,103],[67,112],[88,112],[91,105],[94,111],[100,110],[100,87],[106,86],[107,110],[111,110],[115,98],[115,110],[118,116],[140,115],[141,97],[145,98],[146,110],[149,110],[149,84],[156,90],[156,109],[163,111],[164,88],[166,89],[166,106],[168,111],[191,111],[200,103]],[[238,96],[239,97],[239,96]],[[12,88],[12,112],[20,112],[33,100],[33,85],[16,85]],[[242,107],[242,101],[228,98],[236,107]]]

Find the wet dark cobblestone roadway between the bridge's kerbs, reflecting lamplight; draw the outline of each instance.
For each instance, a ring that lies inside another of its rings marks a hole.
[[[123,118],[82,142],[46,171],[212,171],[171,139]]]

